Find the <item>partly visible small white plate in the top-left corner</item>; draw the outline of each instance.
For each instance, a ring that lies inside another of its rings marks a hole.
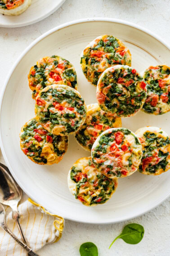
[[[36,23],[53,14],[65,0],[32,0],[28,9],[20,15],[0,14],[0,27],[17,28]]]

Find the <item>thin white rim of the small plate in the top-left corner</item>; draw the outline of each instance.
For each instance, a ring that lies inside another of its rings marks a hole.
[[[27,21],[27,22],[22,23],[22,24],[19,23],[19,24],[13,24],[13,25],[0,24],[0,28],[21,28],[21,27],[24,27],[24,26],[29,26],[29,25],[32,25],[34,23],[37,23],[37,22],[39,22],[43,19],[46,19],[47,17],[49,17],[49,15],[53,14],[56,10],[58,10],[63,5],[63,3],[65,1],[66,0],[60,0],[60,3],[57,4],[54,9],[52,9],[49,13],[47,13],[45,15],[42,15],[38,19],[35,19],[34,21]]]

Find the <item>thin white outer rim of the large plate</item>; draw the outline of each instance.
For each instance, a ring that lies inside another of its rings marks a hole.
[[[65,1],[65,0],[64,0]],[[77,20],[73,20],[67,23],[63,23],[55,28],[50,29],[49,31],[45,32],[44,34],[42,34],[40,37],[38,37],[36,40],[34,40],[33,42],[31,42],[31,44],[24,50],[22,51],[22,53],[20,54],[20,56],[18,57],[18,59],[14,62],[13,67],[11,68],[11,70],[9,71],[9,74],[7,75],[4,85],[2,86],[1,89],[1,93],[0,93],[0,116],[1,116],[1,110],[2,110],[2,102],[3,102],[3,98],[4,98],[4,93],[5,93],[5,89],[9,83],[9,79],[11,78],[15,68],[17,67],[18,63],[22,60],[22,58],[27,54],[28,51],[30,51],[30,49],[32,47],[34,47],[38,42],[40,42],[42,39],[44,39],[45,37],[49,36],[50,34],[62,29],[62,28],[66,28],[75,24],[79,24],[79,23],[86,23],[86,22],[112,22],[112,23],[119,23],[119,24],[124,24],[124,25],[128,25],[130,27],[133,28],[137,28],[140,31],[147,33],[148,35],[154,37],[155,39],[157,39],[159,42],[161,42],[165,47],[167,47],[170,50],[170,46],[168,43],[166,43],[164,40],[162,40],[159,36],[157,36],[155,33],[152,33],[150,30],[148,30],[147,28],[143,28],[142,26],[136,25],[134,23],[122,20],[122,19],[112,19],[112,18],[86,18],[86,19],[77,19]],[[31,195],[31,193],[29,191],[27,191],[27,189],[25,189],[25,187],[22,186],[22,183],[18,180],[18,177],[15,175],[15,172],[13,171],[13,168],[10,165],[10,162],[8,160],[8,157],[5,153],[4,150],[4,145],[2,142],[2,131],[1,131],[1,126],[2,126],[2,122],[0,124],[0,149],[2,152],[2,155],[4,157],[5,163],[7,164],[11,174],[13,175],[14,179],[16,180],[16,182],[18,183],[19,186],[21,186],[21,188],[23,189],[23,191],[32,198],[32,200],[36,201],[36,198],[34,196]],[[121,219],[116,219],[116,220],[105,220],[105,221],[90,221],[90,220],[79,220],[79,219],[73,219],[72,217],[65,217],[63,216],[63,218],[68,219],[68,220],[72,220],[75,222],[79,222],[79,223],[93,223],[93,224],[109,224],[109,223],[120,223],[122,221],[127,221],[130,219],[134,219],[136,217],[139,217],[143,214],[148,213],[149,211],[151,211],[152,209],[156,208],[158,205],[160,205],[162,202],[164,202],[168,197],[170,196],[170,191],[169,193],[167,193],[161,200],[159,200],[157,203],[155,203],[154,205],[152,205],[151,207],[149,207],[148,209],[144,209],[143,211],[141,211],[140,213],[137,214],[132,214],[129,217],[125,217],[125,218],[121,218]],[[45,205],[44,205],[45,207]]]

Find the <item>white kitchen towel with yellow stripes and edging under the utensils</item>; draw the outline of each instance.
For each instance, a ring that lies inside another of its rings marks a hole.
[[[10,207],[6,207],[6,223],[11,231],[21,239],[16,223],[12,219]],[[64,219],[49,213],[44,207],[36,204],[27,195],[23,195],[18,206],[21,214],[22,230],[33,251],[45,244],[57,242],[62,236]],[[0,228],[0,256],[26,256],[27,252]]]

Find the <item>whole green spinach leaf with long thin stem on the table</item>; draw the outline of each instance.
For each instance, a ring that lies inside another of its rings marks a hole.
[[[118,238],[121,238],[123,239],[123,241],[130,244],[137,244],[142,240],[143,234],[143,226],[136,223],[128,224],[125,226],[125,228],[123,228],[122,233],[113,240],[113,242],[109,246],[109,249]]]

